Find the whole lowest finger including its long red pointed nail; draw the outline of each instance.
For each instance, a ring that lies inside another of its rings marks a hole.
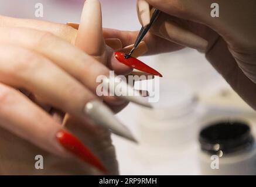
[[[72,134],[61,129],[60,124],[33,105],[24,95],[0,84],[0,99],[1,127],[52,154],[60,157],[73,155],[105,171],[103,164],[87,147]]]

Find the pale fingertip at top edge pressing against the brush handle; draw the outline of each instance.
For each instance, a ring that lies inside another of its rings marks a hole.
[[[145,0],[137,1],[137,13],[142,26],[147,26],[150,22],[149,4]]]

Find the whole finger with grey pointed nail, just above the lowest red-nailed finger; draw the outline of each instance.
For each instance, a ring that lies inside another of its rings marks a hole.
[[[40,96],[47,103],[81,120],[111,129],[134,140],[131,132],[114,113],[80,82],[47,58],[21,47],[0,46],[0,81]],[[17,60],[17,56],[19,56]],[[6,63],[6,61],[8,63]],[[60,81],[58,81],[60,80]],[[109,81],[109,79],[104,79]],[[116,85],[115,85],[116,86]],[[136,97],[138,98],[138,97]],[[99,117],[101,116],[101,117]]]

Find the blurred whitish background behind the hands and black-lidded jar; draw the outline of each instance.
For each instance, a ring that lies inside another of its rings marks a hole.
[[[42,3],[43,18],[35,18],[35,4]],[[83,0],[0,0],[1,15],[79,22]],[[103,26],[139,30],[136,0],[101,0]],[[129,104],[118,117],[129,126],[139,145],[113,135],[123,175],[197,175],[202,127],[219,119],[245,120],[255,129],[255,112],[196,50],[141,57],[162,73],[160,101],[155,110]],[[254,133],[255,134],[255,133]]]

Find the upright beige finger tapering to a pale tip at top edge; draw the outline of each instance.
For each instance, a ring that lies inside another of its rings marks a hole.
[[[87,0],[84,2],[76,46],[94,57],[100,57],[105,52],[101,5],[98,0]]]

